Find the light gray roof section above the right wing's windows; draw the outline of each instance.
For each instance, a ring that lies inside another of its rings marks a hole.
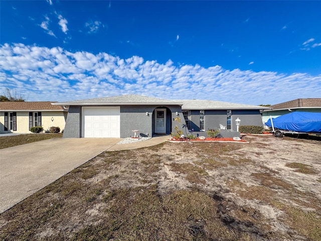
[[[181,99],[177,100],[183,102],[182,109],[266,109],[269,107],[263,107],[250,104],[238,104],[216,100],[204,100],[204,99]]]

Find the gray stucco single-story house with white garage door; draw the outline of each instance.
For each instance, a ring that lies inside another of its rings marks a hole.
[[[166,100],[135,94],[53,103],[68,106],[64,138],[126,138],[175,132],[176,125],[185,131],[207,136],[208,129],[236,130],[241,125],[263,126],[262,106],[211,100]],[[181,123],[176,121],[181,118]],[[187,129],[184,127],[187,126]]]

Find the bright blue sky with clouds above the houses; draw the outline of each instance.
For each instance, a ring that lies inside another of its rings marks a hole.
[[[0,93],[321,97],[321,1],[1,1]]]

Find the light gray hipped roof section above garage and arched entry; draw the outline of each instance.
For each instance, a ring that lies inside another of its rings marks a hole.
[[[154,97],[148,97],[137,94],[125,94],[119,96],[94,98],[94,99],[82,99],[74,101],[66,101],[60,103],[54,103],[55,105],[182,105],[182,103],[160,99]]]

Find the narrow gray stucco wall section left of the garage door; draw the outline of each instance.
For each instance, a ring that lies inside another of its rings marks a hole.
[[[81,137],[81,106],[70,106],[63,138]]]

